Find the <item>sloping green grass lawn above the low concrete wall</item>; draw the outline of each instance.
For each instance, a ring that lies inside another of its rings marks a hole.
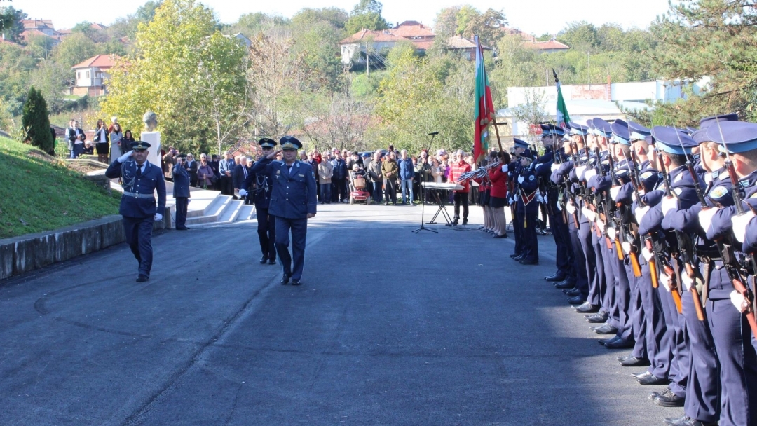
[[[120,194],[81,176],[31,145],[0,137],[0,238],[117,214]]]

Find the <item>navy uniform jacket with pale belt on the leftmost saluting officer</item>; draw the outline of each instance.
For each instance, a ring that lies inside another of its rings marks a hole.
[[[108,178],[123,179],[123,196],[118,213],[135,218],[154,216],[156,212],[163,214],[166,210],[166,181],[163,179],[163,170],[145,161],[145,171],[142,176],[137,178],[136,173],[137,163],[131,159],[123,163],[116,160],[105,170],[105,176]],[[155,190],[157,190],[157,210],[153,195]],[[129,194],[140,194],[142,197],[133,197]]]

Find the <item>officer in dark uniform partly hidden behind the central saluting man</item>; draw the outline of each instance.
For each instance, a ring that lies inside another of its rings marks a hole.
[[[262,138],[257,144],[263,148],[263,156],[271,154],[276,148],[276,141],[269,138]],[[269,212],[272,190],[273,181],[266,173],[250,173],[245,182],[241,183],[239,195],[244,197],[248,191],[252,191],[257,211],[257,238],[263,252],[260,263],[276,265],[276,218]]]

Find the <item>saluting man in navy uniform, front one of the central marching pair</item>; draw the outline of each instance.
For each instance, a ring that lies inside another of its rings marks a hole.
[[[274,151],[257,161],[252,173],[267,175],[273,182],[269,213],[276,216],[276,250],[282,261],[282,284],[291,278],[292,285],[301,285],[305,263],[307,219],[316,216],[316,176],[310,164],[297,160],[302,143],[291,136],[279,139],[281,151]],[[274,161],[283,151],[283,160]],[[289,231],[291,229],[291,256]],[[294,258],[294,269],[292,269]]]

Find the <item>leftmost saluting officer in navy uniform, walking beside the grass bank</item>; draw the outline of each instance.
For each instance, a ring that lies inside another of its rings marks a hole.
[[[110,179],[123,179],[123,196],[119,212],[123,216],[123,234],[139,261],[137,282],[150,279],[152,268],[152,224],[163,219],[166,210],[166,182],[160,166],[147,160],[145,141],[133,141],[132,151],[118,157],[105,170]],[[154,191],[157,189],[157,209]]]

